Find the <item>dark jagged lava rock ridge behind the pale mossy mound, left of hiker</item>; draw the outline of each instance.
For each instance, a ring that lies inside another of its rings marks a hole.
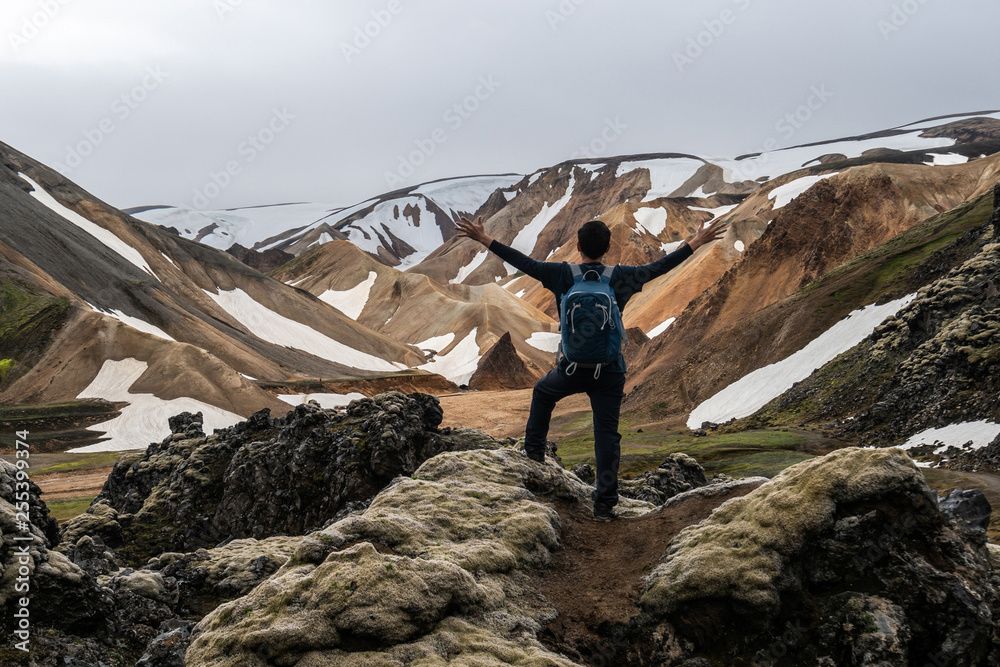
[[[120,555],[133,563],[229,539],[301,535],[435,454],[497,446],[464,429],[439,431],[441,418],[433,396],[399,392],[344,412],[300,405],[272,419],[262,411],[209,436],[197,435],[197,416],[182,415],[175,433],[115,466],[98,500],[117,513],[109,522],[121,527]],[[76,524],[93,521],[95,508],[64,534],[78,537]]]

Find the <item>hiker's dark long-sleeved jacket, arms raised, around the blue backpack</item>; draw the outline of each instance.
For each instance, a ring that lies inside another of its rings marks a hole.
[[[534,278],[542,283],[542,286],[550,290],[556,296],[556,304],[562,303],[563,294],[573,286],[573,273],[566,262],[539,262],[524,253],[514,250],[510,246],[500,243],[496,239],[489,247],[490,252],[507,262],[525,275]],[[619,264],[611,274],[611,289],[615,292],[618,301],[618,310],[624,312],[625,304],[633,295],[642,291],[642,286],[650,280],[655,280],[673,268],[676,268],[692,255],[691,246],[682,245],[669,255],[666,255],[650,264],[640,266],[629,266]],[[600,262],[589,262],[581,266],[586,269],[596,268],[598,271],[604,268]],[[564,360],[565,363],[565,360]],[[618,355],[618,361],[608,368],[609,372],[625,372],[625,359]]]

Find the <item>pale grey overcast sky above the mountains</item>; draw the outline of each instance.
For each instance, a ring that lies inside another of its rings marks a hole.
[[[0,141],[122,208],[1000,109],[996,0],[3,0],[0,27]]]

